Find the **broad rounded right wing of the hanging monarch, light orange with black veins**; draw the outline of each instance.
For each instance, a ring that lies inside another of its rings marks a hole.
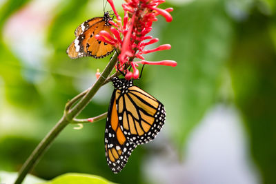
[[[117,96],[119,124],[126,139],[137,145],[155,139],[166,119],[164,105],[153,96],[133,85]]]

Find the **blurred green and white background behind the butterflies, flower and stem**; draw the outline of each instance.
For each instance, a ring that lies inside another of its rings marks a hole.
[[[121,2],[117,10],[123,14]],[[102,0],[0,1],[0,170],[17,172],[57,123],[69,99],[95,82],[106,59],[72,60],[66,48],[81,22],[103,14]],[[68,125],[32,171],[46,180],[66,172],[116,183],[276,183],[276,1],[168,0],[151,35],[171,50],[175,68],[146,66],[141,88],[164,103],[155,141],[112,174],[103,147],[105,120]],[[110,6],[106,10],[111,10]],[[152,47],[155,47],[154,45]],[[108,110],[112,85],[79,117]]]

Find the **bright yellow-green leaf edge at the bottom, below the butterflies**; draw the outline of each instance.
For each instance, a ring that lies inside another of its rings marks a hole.
[[[111,184],[112,182],[91,174],[68,173],[43,184]]]

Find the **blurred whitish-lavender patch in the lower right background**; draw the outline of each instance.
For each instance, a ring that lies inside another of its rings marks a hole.
[[[260,183],[235,108],[217,105],[206,114],[187,140],[184,162],[168,144],[161,146],[166,154],[156,153],[145,162],[150,183]]]

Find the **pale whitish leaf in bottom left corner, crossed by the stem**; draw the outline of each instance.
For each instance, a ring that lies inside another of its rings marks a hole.
[[[2,184],[10,184],[14,183],[15,179],[17,178],[17,172],[5,172],[5,171],[0,171],[0,183]],[[42,183],[45,182],[41,178],[37,178],[36,176],[32,176],[28,174],[23,181],[23,184],[37,184],[37,183]]]

